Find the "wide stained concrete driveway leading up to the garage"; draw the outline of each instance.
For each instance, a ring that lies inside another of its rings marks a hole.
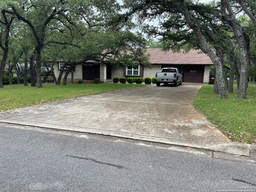
[[[150,85],[62,100],[1,113],[0,122],[234,154],[232,142],[191,106],[200,87],[201,84]]]

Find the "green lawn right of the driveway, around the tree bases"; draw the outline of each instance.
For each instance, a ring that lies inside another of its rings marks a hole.
[[[256,84],[249,84],[246,100],[238,99],[236,91],[220,99],[213,85],[203,85],[193,104],[231,140],[256,143]]]

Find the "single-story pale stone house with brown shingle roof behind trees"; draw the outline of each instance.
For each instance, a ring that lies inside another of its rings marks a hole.
[[[116,67],[110,64],[95,64],[87,61],[87,65],[77,65],[74,69],[74,82],[83,79],[84,82],[100,78],[101,82],[111,81],[114,77],[155,77],[155,74],[164,67],[176,67],[183,76],[183,82],[209,83],[210,66],[213,65],[210,58],[200,50],[183,52],[164,52],[161,49],[147,49],[150,55],[151,67],[139,65],[133,67]],[[90,65],[91,64],[91,65]],[[61,67],[65,61],[59,60],[54,64],[54,74],[58,78]],[[71,74],[68,75],[68,81]]]

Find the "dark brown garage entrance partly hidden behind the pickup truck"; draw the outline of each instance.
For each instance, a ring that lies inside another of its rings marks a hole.
[[[182,82],[203,83],[204,82],[204,66],[203,65],[162,65],[164,67],[178,68],[182,74]]]

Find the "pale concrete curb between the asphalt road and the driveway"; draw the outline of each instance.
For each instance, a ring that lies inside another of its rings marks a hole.
[[[116,138],[162,143],[162,144],[173,145],[173,146],[182,146],[182,147],[210,150],[215,152],[222,152],[230,155],[256,157],[256,145],[249,145],[246,143],[238,143],[238,142],[231,142],[231,141],[194,142],[194,141],[185,141],[185,140],[175,140],[170,138],[159,138],[159,137],[153,137],[150,135],[100,130],[100,129],[93,129],[93,128],[87,128],[87,127],[28,122],[28,121],[21,121],[18,119],[0,119],[0,122],[7,123],[7,124],[14,124],[14,125],[34,126],[34,127],[41,127],[46,129],[99,134],[99,135],[105,135],[105,136],[116,137]]]

